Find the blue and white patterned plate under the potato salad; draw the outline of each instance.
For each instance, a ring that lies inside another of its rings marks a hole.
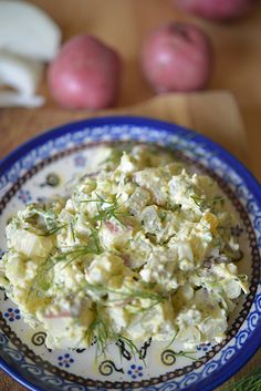
[[[0,256],[10,216],[31,202],[61,194],[74,176],[95,171],[101,143],[156,143],[178,150],[196,169],[218,181],[239,215],[238,236],[244,258],[240,272],[250,278],[250,294],[231,316],[227,339],[184,352],[152,340],[133,357],[124,343],[106,357],[86,350],[49,350],[41,328],[31,330],[19,309],[0,291],[0,367],[30,390],[208,391],[238,371],[261,344],[261,189],[228,152],[184,127],[139,117],[103,117],[72,123],[44,133],[12,152],[0,164]]]

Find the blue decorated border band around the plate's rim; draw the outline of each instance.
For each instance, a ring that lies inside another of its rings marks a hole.
[[[194,156],[195,154],[192,150],[191,153],[189,152],[190,146],[195,146],[197,152],[202,152],[201,156],[198,157],[200,163],[210,167],[218,175],[221,175],[236,192],[239,199],[246,205],[255,229],[259,247],[261,247],[261,189],[258,182],[241,163],[218,144],[192,131],[161,121],[126,116],[103,117],[67,124],[44,133],[23,144],[2,161],[0,164],[0,193],[4,194],[8,186],[15,183],[28,169],[32,168],[43,158],[49,157],[50,151],[51,154],[54,154],[72,145],[86,143],[86,141],[106,140],[106,135],[109,141],[124,140],[127,135],[130,140],[158,142],[159,134],[163,144],[166,144],[166,140],[169,140],[170,136],[174,137],[174,141],[176,137],[178,146],[180,148],[184,147],[188,155]],[[178,390],[181,387],[181,389],[186,388],[187,391],[192,391],[200,387],[200,391],[210,391],[216,388],[239,370],[260,346],[261,294],[257,295],[255,302],[253,308],[251,308],[247,321],[247,329],[238,332],[234,338],[234,344],[221,351],[219,359],[210,360],[203,369],[196,370],[180,380],[168,380],[155,387],[149,385],[144,390],[170,391]],[[65,391],[94,390],[94,388],[70,383],[28,362],[28,358],[23,353],[18,352],[15,348],[11,351],[10,342],[4,338],[6,336],[0,335],[1,350],[6,354],[9,353],[4,356],[12,357],[14,362],[19,362],[19,368],[24,373],[34,373],[38,384],[33,385],[32,382],[24,380],[23,374],[19,373],[20,371],[17,368],[12,368],[3,359],[0,359],[0,367],[30,390],[46,390],[48,383],[49,390],[51,388],[52,391],[61,390],[61,387]],[[242,346],[244,349],[242,349]],[[218,369],[220,364],[221,368]],[[211,378],[209,378],[210,373]]]

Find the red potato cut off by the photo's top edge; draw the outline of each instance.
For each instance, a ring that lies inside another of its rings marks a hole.
[[[257,0],[173,0],[179,8],[212,20],[239,18]]]

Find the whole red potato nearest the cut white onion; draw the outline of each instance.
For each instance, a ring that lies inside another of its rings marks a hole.
[[[65,109],[105,109],[117,96],[121,60],[91,35],[67,41],[48,69],[54,100]]]

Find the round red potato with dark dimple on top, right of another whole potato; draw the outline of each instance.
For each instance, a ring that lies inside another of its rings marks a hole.
[[[154,30],[145,41],[143,72],[158,93],[201,90],[210,75],[210,52],[209,40],[200,29],[170,22]]]

